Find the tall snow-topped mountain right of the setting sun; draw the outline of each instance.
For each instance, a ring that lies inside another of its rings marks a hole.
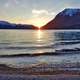
[[[80,9],[64,9],[42,29],[80,29]]]

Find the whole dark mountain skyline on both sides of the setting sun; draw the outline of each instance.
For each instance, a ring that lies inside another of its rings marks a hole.
[[[7,21],[0,21],[0,29],[39,29],[30,24],[15,24]],[[80,9],[66,8],[59,12],[53,20],[42,26],[40,29],[80,29]]]

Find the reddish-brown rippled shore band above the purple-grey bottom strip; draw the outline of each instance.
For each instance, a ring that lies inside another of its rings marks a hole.
[[[76,63],[77,64],[77,63]],[[80,64],[38,64],[31,67],[11,67],[0,64],[0,74],[8,75],[80,75]],[[66,66],[68,65],[68,67]],[[76,69],[75,69],[76,68]]]

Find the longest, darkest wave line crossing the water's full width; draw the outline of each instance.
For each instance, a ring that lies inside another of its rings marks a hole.
[[[70,55],[70,54],[79,54],[80,48],[75,49],[61,49],[56,50],[55,52],[43,52],[43,53],[20,53],[20,54],[10,54],[10,55],[0,55],[0,58],[9,58],[9,57],[37,57],[37,56],[52,56],[52,55]]]

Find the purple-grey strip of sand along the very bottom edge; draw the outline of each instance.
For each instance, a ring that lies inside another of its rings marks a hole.
[[[0,80],[80,80],[79,75],[0,75]]]

